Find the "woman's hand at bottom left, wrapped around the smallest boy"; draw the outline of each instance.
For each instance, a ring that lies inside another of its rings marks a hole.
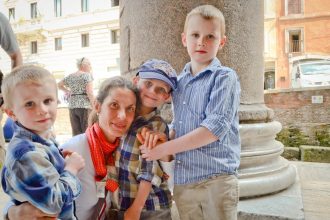
[[[9,220],[56,220],[57,215],[46,214],[28,202],[8,209]]]

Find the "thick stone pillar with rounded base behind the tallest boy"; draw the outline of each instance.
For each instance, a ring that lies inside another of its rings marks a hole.
[[[273,121],[273,111],[264,105],[263,0],[121,0],[121,71],[135,74],[143,61],[159,58],[180,73],[189,61],[181,44],[185,16],[201,4],[212,4],[224,13],[228,42],[218,57],[240,77],[240,196],[285,189],[294,183],[296,172],[280,156],[283,145],[275,136],[281,124]]]

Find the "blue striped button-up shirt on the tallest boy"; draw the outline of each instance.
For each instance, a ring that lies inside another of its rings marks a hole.
[[[176,154],[174,183],[197,183],[215,175],[237,174],[240,162],[238,108],[240,84],[236,72],[217,58],[195,76],[186,64],[173,95],[176,138],[205,127],[218,140]]]

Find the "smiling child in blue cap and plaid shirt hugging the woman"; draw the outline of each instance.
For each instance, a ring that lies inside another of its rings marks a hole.
[[[158,107],[176,89],[176,72],[165,61],[148,60],[133,79],[140,94],[137,118],[124,138],[116,158],[119,182],[119,219],[171,219],[172,197],[167,185],[167,174],[159,161],[140,157],[137,133],[144,127],[165,133],[169,129],[161,118]],[[169,160],[170,158],[162,158]]]

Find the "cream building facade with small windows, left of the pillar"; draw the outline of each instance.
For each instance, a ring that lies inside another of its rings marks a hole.
[[[76,60],[88,57],[94,86],[119,75],[119,0],[3,0],[5,14],[19,41],[25,64],[48,69],[56,79],[75,71]],[[10,60],[0,51],[1,68]]]

